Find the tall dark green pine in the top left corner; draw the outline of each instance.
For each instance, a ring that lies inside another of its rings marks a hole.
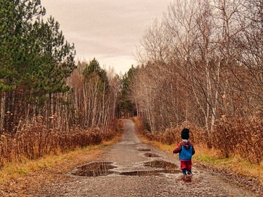
[[[36,57],[32,20],[44,14],[40,1],[0,0],[0,92],[28,80]]]

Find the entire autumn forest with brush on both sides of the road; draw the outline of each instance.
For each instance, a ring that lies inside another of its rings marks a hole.
[[[0,166],[98,144],[116,118],[144,135],[262,162],[263,2],[175,0],[147,27],[123,77],[75,61],[39,0],[0,0]]]

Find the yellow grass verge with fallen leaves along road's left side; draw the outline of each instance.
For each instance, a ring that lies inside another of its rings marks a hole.
[[[62,175],[77,165],[93,161],[120,139],[121,134],[113,140],[102,141],[100,144],[63,154],[48,155],[37,160],[25,160],[22,163],[8,163],[0,170],[0,196],[23,195],[28,190],[38,189],[43,183],[52,182],[58,178],[65,179],[66,177]]]

